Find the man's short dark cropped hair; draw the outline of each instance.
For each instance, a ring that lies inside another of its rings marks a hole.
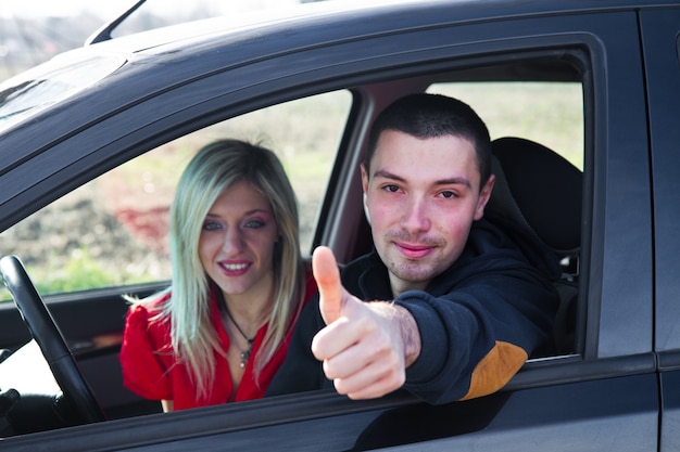
[[[410,94],[385,108],[374,121],[368,137],[364,165],[370,169],[378,139],[386,130],[395,130],[418,139],[461,137],[475,146],[479,167],[479,190],[491,175],[489,130],[475,111],[457,99],[440,94]]]

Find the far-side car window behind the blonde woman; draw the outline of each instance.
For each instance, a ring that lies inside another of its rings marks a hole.
[[[8,229],[0,254],[18,256],[43,295],[167,281],[167,212],[179,176],[202,145],[236,138],[261,143],[281,159],[298,195],[306,255],[350,106],[348,91],[329,92],[181,137]],[[0,298],[11,299],[2,290]]]

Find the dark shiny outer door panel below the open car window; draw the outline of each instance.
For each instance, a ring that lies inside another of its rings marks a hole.
[[[656,387],[653,374],[501,392],[430,406],[399,395],[356,402],[333,395],[284,396],[242,406],[149,415],[10,440],[13,450],[504,450],[601,451],[602,435],[616,450],[656,449],[657,402],[641,397]],[[630,395],[621,398],[621,393]],[[574,404],[574,400],[580,403]],[[390,403],[391,402],[391,403]],[[568,409],[561,409],[568,406]],[[268,416],[261,412],[266,411]],[[172,418],[171,418],[172,417]],[[290,435],[294,422],[298,435]],[[614,426],[615,430],[612,430]],[[619,428],[620,426],[620,428]],[[248,427],[248,428],[245,428]],[[119,431],[126,431],[123,438]],[[113,438],[113,437],[116,438]],[[158,445],[153,445],[158,443]]]

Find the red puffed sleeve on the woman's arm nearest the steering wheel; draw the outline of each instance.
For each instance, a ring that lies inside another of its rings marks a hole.
[[[168,372],[154,346],[149,313],[143,306],[134,306],[128,311],[119,359],[127,389],[150,400],[173,399]]]

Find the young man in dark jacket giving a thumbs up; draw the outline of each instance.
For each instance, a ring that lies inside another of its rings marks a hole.
[[[552,341],[559,268],[542,244],[483,218],[494,183],[483,121],[451,98],[402,98],[376,119],[361,170],[375,250],[340,275],[330,249],[316,249],[318,304],[267,395],[403,387],[445,403],[499,390]]]

